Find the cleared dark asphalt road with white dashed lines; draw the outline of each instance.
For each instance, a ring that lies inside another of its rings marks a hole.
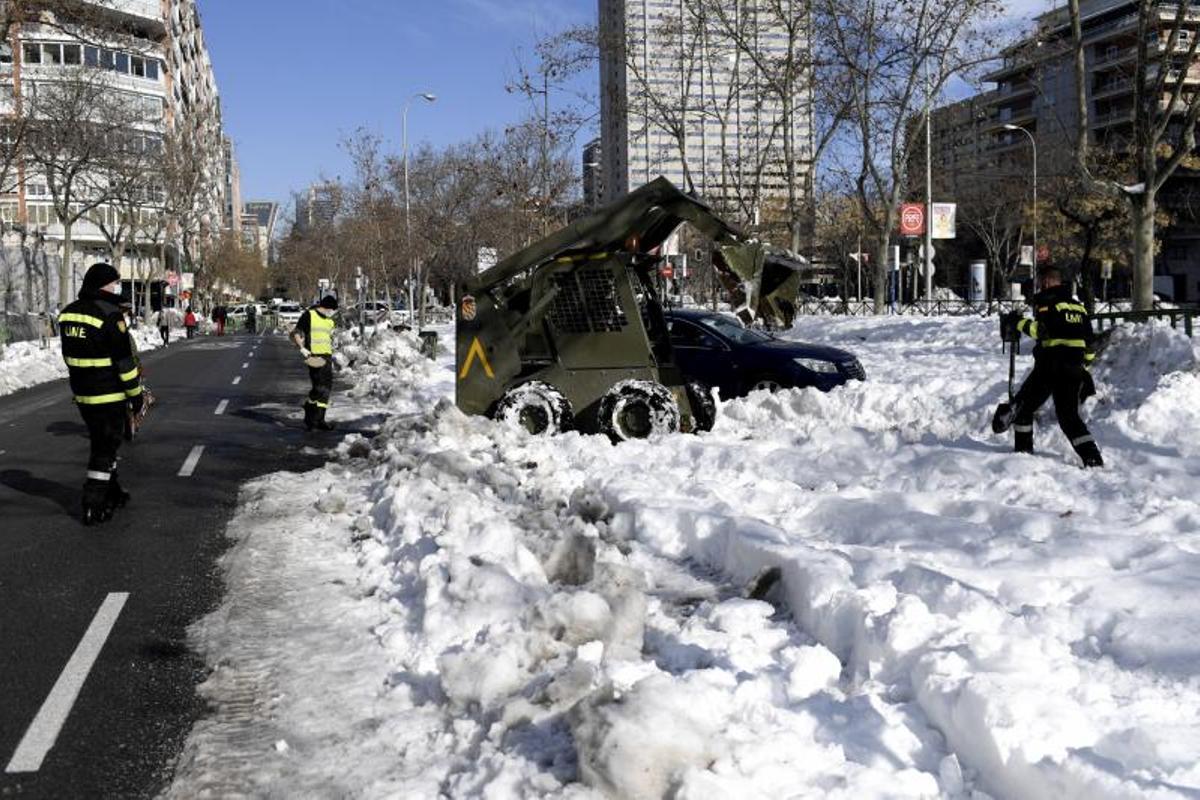
[[[282,336],[173,342],[143,363],[158,404],[121,447],[133,500],[98,527],[78,521],[88,439],[66,383],[0,398],[0,798],[164,786],[204,710],[186,628],[220,601],[239,486],[336,443],[304,431],[307,374]]]

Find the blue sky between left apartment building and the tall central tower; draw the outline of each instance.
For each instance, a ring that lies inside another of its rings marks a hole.
[[[349,176],[338,149],[362,126],[398,152],[503,128],[523,101],[504,90],[538,32],[595,18],[596,0],[198,0],[238,148],[242,197],[288,203],[322,174]]]

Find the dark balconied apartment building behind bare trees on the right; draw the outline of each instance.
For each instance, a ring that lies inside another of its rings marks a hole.
[[[1170,65],[1172,58],[1180,58],[1166,53],[1166,35],[1177,8],[1172,2],[1154,8],[1157,30],[1151,31],[1150,43],[1159,64]],[[1138,5],[1130,0],[1082,0],[1080,11],[1088,133],[1100,146],[1121,149],[1133,136]],[[1186,18],[1176,53],[1186,52],[1198,35],[1200,10]],[[1178,66],[1174,70],[1175,79],[1200,88],[1200,68],[1183,72]],[[1157,68],[1158,65],[1151,65],[1148,79],[1153,79]],[[1038,17],[1033,34],[1006,49],[1000,65],[985,79],[995,89],[965,101],[973,106],[972,113],[982,122],[964,120],[964,103],[934,114],[930,127],[935,140],[955,143],[944,154],[935,152],[935,181],[938,172],[952,173],[943,175],[942,181],[964,192],[960,197],[970,197],[972,185],[985,191],[989,181],[1028,176],[1033,152],[1030,139],[1006,126],[1020,126],[1037,142],[1038,174],[1043,180],[1069,174],[1078,138],[1078,109],[1067,7]],[[973,136],[965,133],[967,128],[973,130]],[[1156,290],[1176,301],[1200,301],[1196,198],[1200,198],[1200,175],[1187,170],[1169,181],[1159,196],[1160,206],[1172,212],[1175,222],[1159,230],[1163,246],[1156,265]]]

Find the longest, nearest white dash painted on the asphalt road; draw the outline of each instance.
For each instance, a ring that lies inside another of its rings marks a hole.
[[[88,680],[88,673],[96,663],[96,657],[100,656],[121,608],[125,607],[125,601],[128,599],[130,593],[127,591],[116,591],[104,597],[104,602],[101,603],[100,610],[92,618],[91,625],[88,626],[83,639],[71,655],[71,660],[62,668],[62,674],[54,682],[54,688],[50,690],[42,708],[37,711],[37,716],[34,717],[20,744],[17,745],[17,752],[12,754],[12,760],[5,769],[6,772],[36,772],[42,769],[42,760],[58,740],[59,732],[62,730],[62,724],[67,721],[71,708],[79,697],[79,690]]]

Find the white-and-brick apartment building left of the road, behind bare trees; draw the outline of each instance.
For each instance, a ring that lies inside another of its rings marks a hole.
[[[82,0],[74,8],[74,18],[41,17],[13,29],[11,42],[0,48],[0,115],[11,124],[18,114],[34,113],[28,109],[36,108],[38,91],[95,80],[106,94],[140,108],[127,136],[146,152],[160,152],[168,131],[194,143],[203,158],[203,181],[194,213],[188,215],[191,233],[215,235],[230,186],[221,148],[220,97],[196,0]],[[50,203],[48,179],[26,154],[16,152],[11,180],[0,187],[0,219],[6,231],[19,227],[53,252],[64,239],[64,227]],[[160,213],[162,198],[162,191],[148,190],[140,213]],[[112,219],[115,213],[101,205],[73,225],[72,294],[90,263],[112,257],[95,219]],[[163,253],[167,269],[176,269],[179,234],[163,234],[167,247],[136,234],[121,263],[122,276],[161,275]]]

